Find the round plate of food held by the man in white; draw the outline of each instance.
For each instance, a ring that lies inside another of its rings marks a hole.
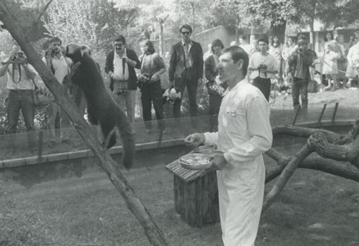
[[[213,158],[208,154],[189,153],[180,158],[182,167],[192,170],[210,168],[213,164]]]

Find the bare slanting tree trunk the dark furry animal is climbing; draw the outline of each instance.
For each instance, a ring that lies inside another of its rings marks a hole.
[[[139,198],[134,194],[132,187],[130,187],[125,176],[120,172],[118,164],[113,161],[106,150],[102,149],[101,143],[93,130],[89,127],[86,121],[84,121],[84,118],[80,116],[77,110],[75,110],[76,106],[72,99],[70,99],[65,87],[56,80],[49,68],[42,62],[37,51],[29,45],[27,37],[23,35],[18,23],[13,19],[11,13],[8,12],[8,8],[4,1],[0,1],[0,19],[4,23],[6,30],[11,33],[13,38],[23,49],[29,62],[42,77],[46,87],[53,93],[56,102],[73,122],[73,125],[84,142],[86,142],[87,146],[92,149],[92,152],[94,152],[94,155],[99,160],[99,166],[106,172],[108,178],[113,185],[115,185],[115,188],[120,192],[123,199],[125,199],[128,209],[130,209],[132,214],[134,214],[137,220],[141,223],[149,241],[153,245],[167,245],[162,232],[159,230],[158,226],[156,226],[156,223],[154,223],[149,211],[143,204],[141,204]]]

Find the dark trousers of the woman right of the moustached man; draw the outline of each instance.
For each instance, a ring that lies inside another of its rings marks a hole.
[[[144,117],[144,125],[146,129],[151,130],[152,128],[152,104],[153,109],[155,109],[156,119],[158,121],[158,129],[163,129],[165,124],[163,122],[163,102],[160,80],[146,83],[141,87],[141,103],[142,116]]]

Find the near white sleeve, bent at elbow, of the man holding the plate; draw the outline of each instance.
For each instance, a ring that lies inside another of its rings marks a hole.
[[[253,97],[246,107],[248,133],[246,142],[238,142],[225,153],[227,162],[253,161],[257,156],[272,147],[272,128],[270,126],[270,108],[264,97]],[[235,141],[235,139],[233,139]]]

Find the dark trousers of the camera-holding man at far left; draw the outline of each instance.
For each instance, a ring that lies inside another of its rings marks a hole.
[[[36,137],[34,134],[35,107],[32,93],[34,93],[32,90],[9,90],[7,102],[8,132],[16,133],[21,110],[27,130],[27,142],[30,148],[36,147]]]

